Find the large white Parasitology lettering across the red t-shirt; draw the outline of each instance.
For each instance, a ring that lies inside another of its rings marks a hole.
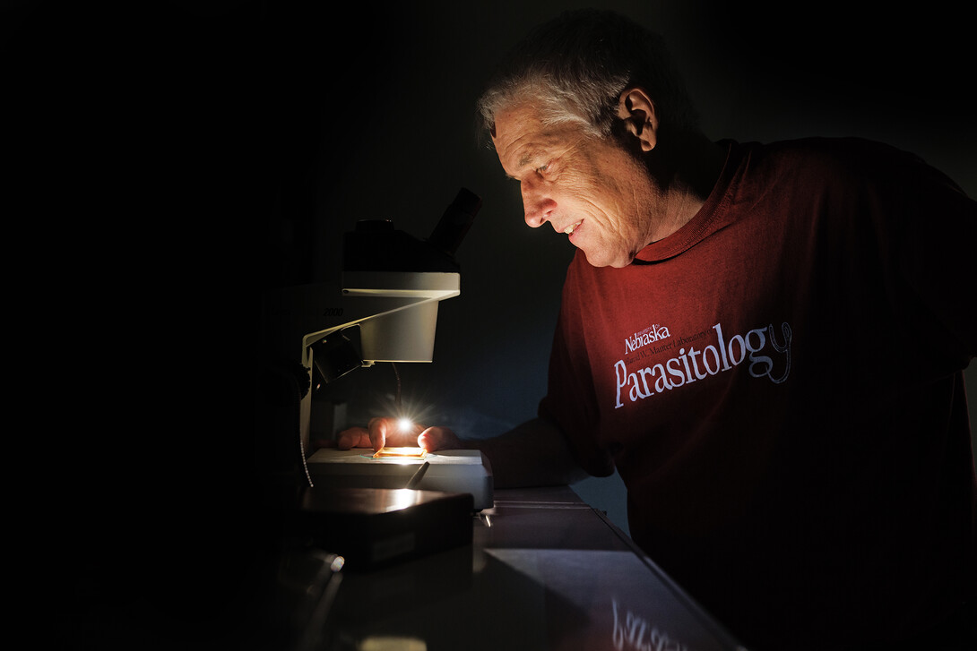
[[[662,330],[667,332],[667,329],[662,328]],[[743,363],[748,364],[747,370],[753,378],[767,378],[775,385],[780,385],[786,381],[790,374],[790,342],[792,339],[790,324],[786,321],[781,324],[782,341],[778,341],[778,335],[773,324],[766,328],[750,330],[744,335],[734,335],[728,341],[723,334],[721,323],[712,326],[712,330],[716,335],[714,343],[696,347],[699,340],[705,339],[708,330],[692,337],[680,337],[665,346],[654,348],[654,351],[658,353],[667,349],[674,349],[674,346],[682,346],[679,347],[677,355],[664,362],[645,366],[631,373],[628,373],[623,359],[617,360],[615,362],[617,386],[615,409],[623,407],[623,400],[625,399],[630,402],[644,400],[656,393],[691,385],[719,373],[725,373]],[[648,344],[651,343],[651,341],[648,342]],[[691,344],[688,349],[683,346],[687,343]],[[642,344],[642,346],[646,346],[646,344]],[[775,356],[778,357],[776,362]],[[627,361],[632,363],[642,357],[644,357],[643,354],[636,355]],[[777,371],[776,377],[775,368],[780,369]]]

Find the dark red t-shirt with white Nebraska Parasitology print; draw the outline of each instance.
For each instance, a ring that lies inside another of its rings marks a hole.
[[[540,416],[747,645],[928,626],[975,577],[977,204],[876,143],[729,147],[633,264],[577,253]]]

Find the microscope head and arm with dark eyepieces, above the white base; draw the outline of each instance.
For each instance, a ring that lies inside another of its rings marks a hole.
[[[480,208],[481,199],[462,188],[426,240],[389,221],[361,221],[346,233],[341,275],[266,295],[263,346],[272,388],[258,427],[266,439],[291,442],[270,462],[281,474],[293,472],[296,460],[305,466],[312,454],[314,366],[328,384],[375,362],[433,360],[438,304],[461,291],[453,254]],[[354,327],[360,350],[343,334]]]

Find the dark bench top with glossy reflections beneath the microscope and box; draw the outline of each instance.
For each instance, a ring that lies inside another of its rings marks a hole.
[[[285,549],[261,613],[295,651],[735,651],[736,640],[569,487],[496,490],[470,543],[381,567]]]

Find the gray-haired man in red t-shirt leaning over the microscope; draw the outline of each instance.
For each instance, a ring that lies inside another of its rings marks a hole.
[[[482,448],[499,486],[616,468],[635,542],[751,649],[957,648],[977,205],[876,143],[710,142],[668,61],[568,14],[492,81],[527,224],[578,252],[538,418],[420,444]]]

